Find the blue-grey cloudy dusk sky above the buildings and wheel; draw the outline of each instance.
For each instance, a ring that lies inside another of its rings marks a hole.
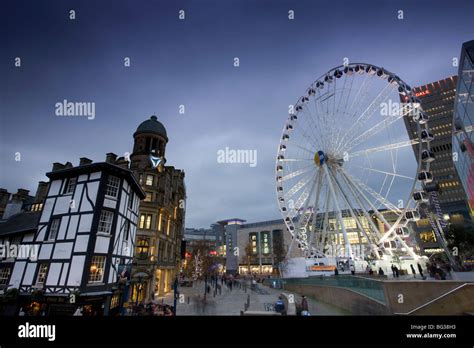
[[[186,227],[280,218],[288,105],[344,57],[411,86],[455,75],[473,13],[472,0],[2,1],[0,187],[34,194],[53,162],[131,152],[136,127],[156,114],[167,165],[186,173]],[[95,102],[95,119],[56,116],[64,99]],[[218,163],[226,147],[257,150],[257,165]]]

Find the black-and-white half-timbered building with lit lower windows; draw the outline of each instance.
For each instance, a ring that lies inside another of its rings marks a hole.
[[[35,234],[22,243],[38,246],[36,259],[17,260],[8,281],[21,294],[39,293],[49,314],[117,312],[126,300],[120,286],[129,276],[138,209],[145,193],[128,162],[81,158],[73,167],[55,163]],[[128,272],[128,274],[126,274]]]

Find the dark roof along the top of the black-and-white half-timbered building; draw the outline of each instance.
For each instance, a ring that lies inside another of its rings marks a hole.
[[[53,172],[46,173],[46,176],[51,180],[55,180],[98,171],[106,171],[108,173],[124,177],[132,186],[134,191],[138,194],[140,199],[144,199],[146,197],[145,192],[138,184],[135,175],[133,175],[132,171],[108,162],[96,162],[77,167],[55,170]]]

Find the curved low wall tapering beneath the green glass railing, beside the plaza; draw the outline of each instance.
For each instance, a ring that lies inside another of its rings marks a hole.
[[[309,284],[285,284],[286,291],[295,292],[316,300],[331,303],[352,315],[388,315],[389,309],[382,303],[355,291]]]

